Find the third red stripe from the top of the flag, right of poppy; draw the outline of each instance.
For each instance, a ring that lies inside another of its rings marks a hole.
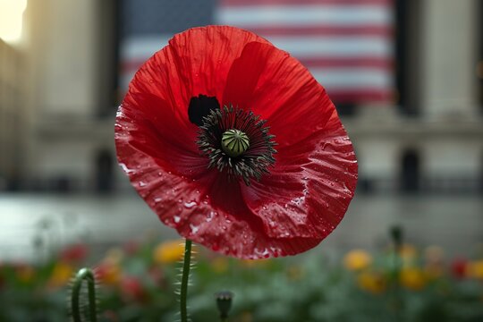
[[[347,67],[368,67],[383,70],[393,69],[393,60],[391,58],[377,57],[314,57],[300,58],[299,61],[307,68],[347,68]]]

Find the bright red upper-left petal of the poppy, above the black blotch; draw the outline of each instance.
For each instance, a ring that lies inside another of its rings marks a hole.
[[[177,34],[136,73],[128,97],[135,92],[160,97],[180,123],[187,123],[191,97],[222,97],[233,60],[253,41],[267,42],[228,26],[199,27]],[[196,130],[194,124],[192,127]]]

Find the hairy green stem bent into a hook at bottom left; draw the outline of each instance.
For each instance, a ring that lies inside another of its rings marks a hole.
[[[82,282],[87,281],[88,284],[88,300],[89,300],[89,318],[90,322],[97,322],[97,307],[96,307],[96,280],[94,273],[89,268],[80,268],[77,275],[75,275],[72,284],[72,319],[74,322],[81,322],[80,318],[80,288]]]

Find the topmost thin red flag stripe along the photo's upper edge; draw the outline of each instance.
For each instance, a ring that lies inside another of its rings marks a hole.
[[[222,6],[245,6],[245,5],[303,5],[303,4],[327,4],[327,5],[393,5],[394,0],[221,0]]]

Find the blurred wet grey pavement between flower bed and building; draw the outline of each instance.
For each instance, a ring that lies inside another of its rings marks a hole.
[[[384,247],[388,227],[396,224],[411,243],[439,245],[449,256],[470,255],[483,242],[483,198],[359,195],[335,232],[313,251]],[[80,241],[122,245],[147,233],[165,239],[177,236],[134,192],[2,194],[0,227],[0,261],[36,258],[35,241],[55,248]]]

